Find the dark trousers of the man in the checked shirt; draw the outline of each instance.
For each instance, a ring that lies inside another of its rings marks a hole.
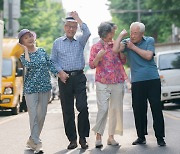
[[[69,141],[77,140],[74,100],[78,113],[78,134],[81,138],[89,137],[89,113],[87,107],[86,77],[83,73],[70,75],[64,84],[58,79],[60,101],[63,112],[65,133]]]

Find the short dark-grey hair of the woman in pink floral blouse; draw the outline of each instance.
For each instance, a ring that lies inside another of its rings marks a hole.
[[[105,38],[108,33],[112,32],[116,25],[112,22],[102,22],[98,27],[98,34],[100,38]]]

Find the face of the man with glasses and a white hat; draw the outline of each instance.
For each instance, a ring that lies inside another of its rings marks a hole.
[[[77,31],[77,22],[67,21],[64,25],[64,31],[69,39],[72,39]]]

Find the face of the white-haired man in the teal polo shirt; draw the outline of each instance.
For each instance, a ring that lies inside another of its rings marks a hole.
[[[130,39],[132,43],[139,43],[144,33],[140,32],[139,26],[132,26],[130,29]]]

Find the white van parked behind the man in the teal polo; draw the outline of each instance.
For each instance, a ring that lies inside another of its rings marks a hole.
[[[180,103],[180,50],[158,52],[155,56],[161,79],[161,101]]]

